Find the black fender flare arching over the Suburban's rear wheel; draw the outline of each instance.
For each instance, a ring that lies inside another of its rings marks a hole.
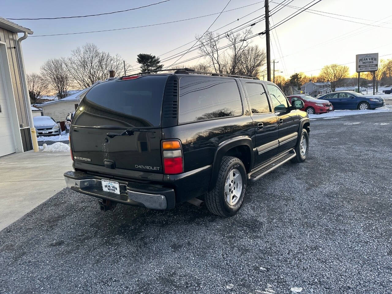
[[[215,187],[215,183],[218,178],[218,172],[220,169],[220,163],[222,161],[223,155],[227,151],[229,151],[230,149],[237,147],[237,146],[243,146],[243,145],[249,147],[250,168],[252,167],[253,162],[254,162],[254,152],[253,152],[253,142],[252,142],[251,138],[249,138],[247,136],[239,136],[239,137],[230,138],[226,141],[221,142],[215,151],[214,162],[212,162],[212,174],[211,174],[211,180],[210,180],[210,185],[209,185],[208,191],[211,191]],[[249,171],[247,171],[247,172],[249,172]]]

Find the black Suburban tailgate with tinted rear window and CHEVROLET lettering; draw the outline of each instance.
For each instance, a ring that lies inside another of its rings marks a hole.
[[[136,178],[140,172],[130,171],[162,174],[161,112],[166,80],[166,75],[157,74],[94,86],[72,121],[75,167],[103,174],[123,170],[124,175]]]

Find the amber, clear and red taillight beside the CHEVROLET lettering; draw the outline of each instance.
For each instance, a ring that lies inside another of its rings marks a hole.
[[[184,171],[181,141],[170,140],[162,142],[163,172],[165,174],[180,174]]]

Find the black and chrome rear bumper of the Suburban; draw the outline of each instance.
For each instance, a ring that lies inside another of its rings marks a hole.
[[[175,204],[174,189],[160,185],[117,180],[80,171],[67,171],[64,178],[67,187],[73,191],[100,199],[151,209],[171,209]],[[102,191],[101,180],[117,181],[120,184],[120,194]]]

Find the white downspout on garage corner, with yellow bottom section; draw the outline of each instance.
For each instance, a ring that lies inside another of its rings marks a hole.
[[[30,95],[29,91],[27,90],[27,79],[26,79],[26,73],[25,73],[25,67],[24,67],[24,59],[23,59],[23,54],[22,54],[22,46],[20,43],[27,38],[27,32],[24,32],[24,35],[20,38],[18,38],[18,47],[16,48],[18,51],[19,55],[19,68],[20,68],[20,75],[22,76],[21,82],[22,82],[22,90],[25,95],[25,103],[26,103],[26,109],[27,109],[27,116],[29,116],[29,121],[30,121],[30,130],[31,130],[31,141],[33,142],[33,148],[34,152],[38,152],[38,141],[37,141],[37,134],[34,128],[34,121],[33,121],[33,113],[31,111],[31,105],[30,105]]]

